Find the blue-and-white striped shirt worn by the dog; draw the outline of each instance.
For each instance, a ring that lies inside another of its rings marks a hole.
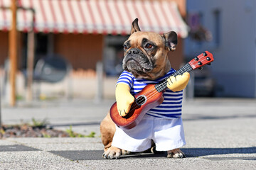
[[[176,72],[176,70],[171,69],[167,74],[164,75],[164,77],[151,81],[146,79],[136,79],[132,73],[124,71],[120,75],[117,84],[128,84],[131,94],[134,95],[139,93],[139,91],[142,91],[147,84],[157,84],[166,77],[169,77],[174,72]],[[182,98],[183,91],[174,92],[167,88],[164,92],[163,103],[155,108],[151,108],[146,114],[157,118],[179,118],[181,117]]]

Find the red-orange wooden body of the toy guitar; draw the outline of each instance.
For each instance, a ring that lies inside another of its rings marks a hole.
[[[110,117],[113,122],[122,128],[132,129],[143,118],[149,109],[159,106],[164,101],[163,92],[156,91],[155,84],[149,84],[136,94],[129,113],[122,117],[117,111],[117,102],[110,108]],[[152,95],[153,94],[153,95]]]

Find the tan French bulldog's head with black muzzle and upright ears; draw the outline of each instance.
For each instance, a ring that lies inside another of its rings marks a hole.
[[[131,35],[124,42],[122,67],[136,78],[158,79],[171,69],[167,53],[174,51],[177,43],[177,34],[174,31],[164,35],[142,32],[138,19],[135,19]]]

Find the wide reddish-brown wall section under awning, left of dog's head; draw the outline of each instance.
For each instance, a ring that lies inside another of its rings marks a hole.
[[[95,69],[102,60],[103,35],[55,34],[54,52],[63,55],[74,69]]]

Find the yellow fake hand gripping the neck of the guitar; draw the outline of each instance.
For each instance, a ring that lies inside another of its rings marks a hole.
[[[190,74],[188,72],[178,75],[176,77],[172,76],[167,79],[167,87],[171,91],[181,91],[186,88],[188,84]]]

